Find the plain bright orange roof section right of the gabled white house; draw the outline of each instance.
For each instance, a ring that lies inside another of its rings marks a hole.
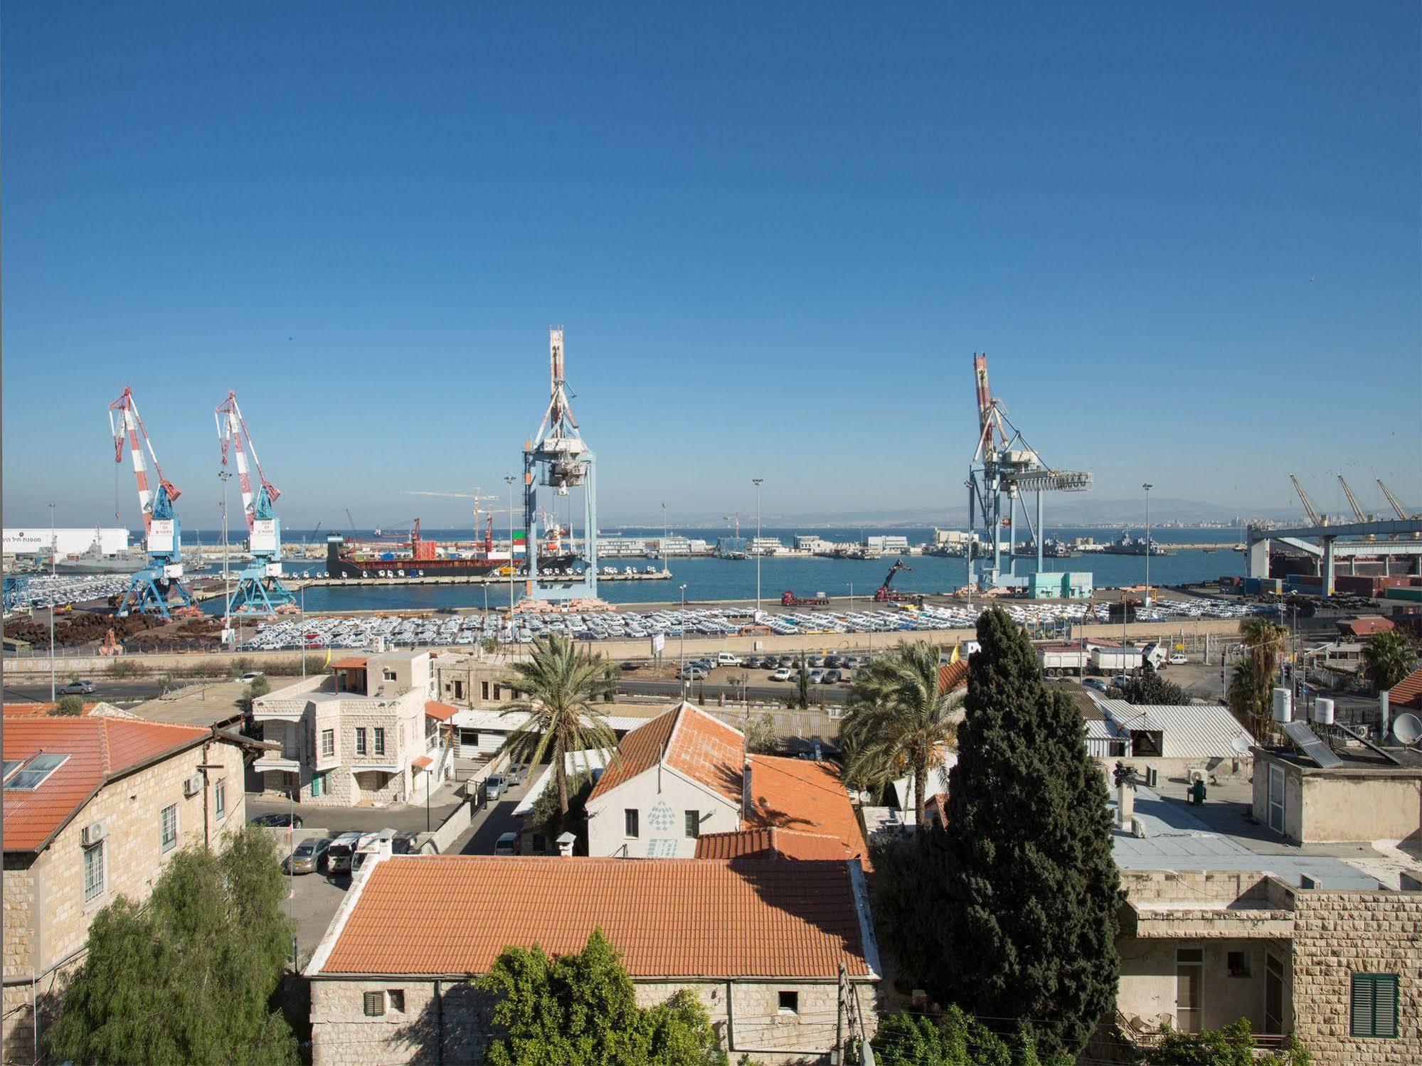
[[[873,868],[855,806],[832,763],[776,755],[752,755],[749,762],[751,810],[742,816],[747,829],[779,826],[825,833],[836,837],[865,870]]]

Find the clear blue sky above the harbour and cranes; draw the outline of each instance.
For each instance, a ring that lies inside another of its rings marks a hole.
[[[549,324],[607,522],[961,507],[983,350],[1101,499],[1422,503],[1415,4],[510,7],[4,6],[6,524],[125,384],[186,527],[229,388],[287,526],[458,522]]]

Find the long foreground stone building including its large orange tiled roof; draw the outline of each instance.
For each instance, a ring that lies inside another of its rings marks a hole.
[[[506,945],[563,955],[596,928],[640,1006],[693,991],[732,1062],[828,1062],[842,967],[845,1033],[873,1035],[857,861],[394,856],[361,871],[306,969],[313,1062],[482,1062],[491,1001],[469,978]]]

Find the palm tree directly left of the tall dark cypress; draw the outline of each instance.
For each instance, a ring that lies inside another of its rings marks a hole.
[[[939,650],[900,641],[855,679],[840,728],[845,776],[876,787],[913,777],[917,827],[924,827],[929,772],[958,731],[961,692],[939,691]]]

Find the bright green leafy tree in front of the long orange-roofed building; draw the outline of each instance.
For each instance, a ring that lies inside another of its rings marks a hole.
[[[491,1066],[725,1066],[711,1019],[691,992],[638,1008],[617,949],[594,930],[576,955],[505,948],[476,988],[498,996]]]

